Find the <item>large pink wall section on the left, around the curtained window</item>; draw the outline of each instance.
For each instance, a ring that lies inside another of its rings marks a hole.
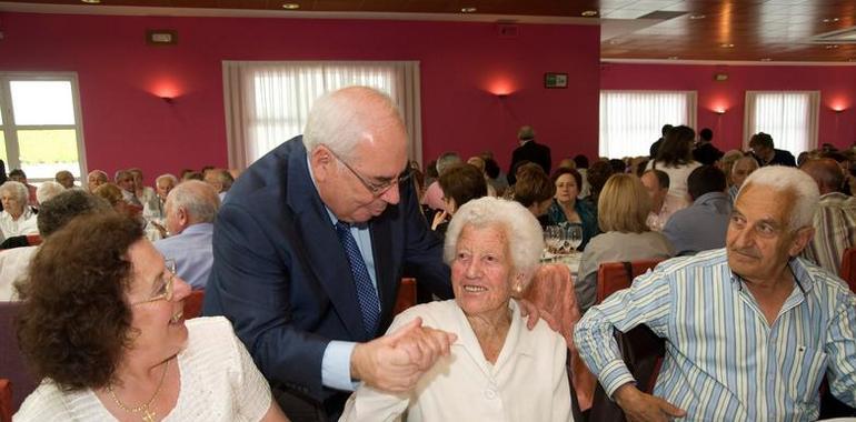
[[[179,44],[147,46],[146,29],[177,30]],[[499,38],[491,23],[0,13],[0,70],[78,73],[89,169],[138,165],[151,181],[226,165],[222,60],[419,60],[426,161],[492,150],[506,167],[521,124],[556,161],[597,153],[595,26]],[[567,72],[569,89],[544,89],[548,71]]]

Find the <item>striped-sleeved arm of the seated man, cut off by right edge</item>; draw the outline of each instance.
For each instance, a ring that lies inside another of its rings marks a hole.
[[[843,294],[827,334],[827,375],[833,395],[856,408],[856,297]]]

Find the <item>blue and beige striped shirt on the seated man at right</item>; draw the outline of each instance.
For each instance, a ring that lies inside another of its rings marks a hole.
[[[798,284],[772,326],[718,249],[640,275],[591,308],[574,340],[611,396],[635,381],[613,328],[648,325],[666,339],[654,394],[686,410],[686,420],[815,420],[824,374],[832,393],[856,406],[856,297],[807,261],[790,269]]]

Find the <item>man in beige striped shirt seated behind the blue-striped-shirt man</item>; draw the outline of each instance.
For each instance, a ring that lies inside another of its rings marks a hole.
[[[844,250],[856,245],[856,198],[842,193],[844,171],[833,159],[806,161],[800,168],[820,190],[815,211],[815,238],[803,257],[832,273],[840,273]]]

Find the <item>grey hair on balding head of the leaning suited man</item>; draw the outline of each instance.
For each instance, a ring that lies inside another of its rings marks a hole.
[[[347,87],[315,101],[303,129],[303,145],[307,152],[326,145],[341,158],[352,159],[366,132],[388,125],[407,132],[389,96],[369,87]]]

